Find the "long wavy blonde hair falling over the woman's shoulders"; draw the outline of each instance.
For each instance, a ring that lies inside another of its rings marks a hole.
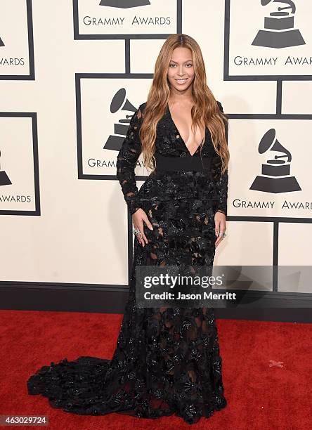
[[[221,174],[228,168],[230,154],[226,142],[226,126],[228,117],[221,112],[212,91],[207,86],[206,71],[202,51],[197,41],[187,34],[171,34],[164,42],[155,63],[155,72],[152,85],[148,93],[148,100],[144,111],[139,136],[142,143],[143,161],[148,169],[155,169],[156,160],[155,139],[157,134],[157,123],[163,117],[169,101],[170,84],[167,79],[167,71],[171,56],[175,48],[183,46],[189,48],[193,54],[193,65],[195,77],[193,80],[192,128],[204,124],[212,136],[212,143],[216,153],[221,157]],[[140,115],[140,112],[139,112]],[[200,150],[204,139],[200,144]]]

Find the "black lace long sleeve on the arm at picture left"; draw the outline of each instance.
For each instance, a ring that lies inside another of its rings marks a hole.
[[[124,193],[124,200],[128,205],[130,214],[134,214],[140,209],[140,200],[138,197],[138,188],[134,170],[136,162],[141,154],[141,141],[138,132],[141,126],[142,113],[140,107],[131,117],[129,129],[117,155],[117,178]]]

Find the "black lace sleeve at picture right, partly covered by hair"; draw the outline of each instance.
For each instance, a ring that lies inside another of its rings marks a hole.
[[[221,112],[223,107],[221,103],[217,102]],[[228,143],[228,124],[226,126],[226,142]],[[223,212],[227,215],[227,204],[228,204],[228,169],[221,175],[221,157],[215,157],[212,163],[212,174],[214,178],[215,190],[216,190],[216,210],[215,212]]]

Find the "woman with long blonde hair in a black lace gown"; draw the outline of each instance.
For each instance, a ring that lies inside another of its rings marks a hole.
[[[79,415],[175,414],[189,424],[226,406],[213,309],[135,307],[135,268],[212,266],[226,235],[227,126],[206,84],[197,42],[171,35],[157,58],[148,100],[131,117],[117,156],[136,236],[114,356],[52,362],[30,377],[30,394]],[[138,191],[134,169],[141,152],[152,172]]]

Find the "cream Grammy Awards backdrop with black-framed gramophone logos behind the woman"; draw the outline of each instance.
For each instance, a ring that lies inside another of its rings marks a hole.
[[[180,32],[229,117],[215,263],[311,266],[311,18],[306,0],[0,0],[1,283],[126,289],[117,153]],[[148,174],[140,157],[138,188]],[[311,293],[304,271],[272,273],[241,288]]]

